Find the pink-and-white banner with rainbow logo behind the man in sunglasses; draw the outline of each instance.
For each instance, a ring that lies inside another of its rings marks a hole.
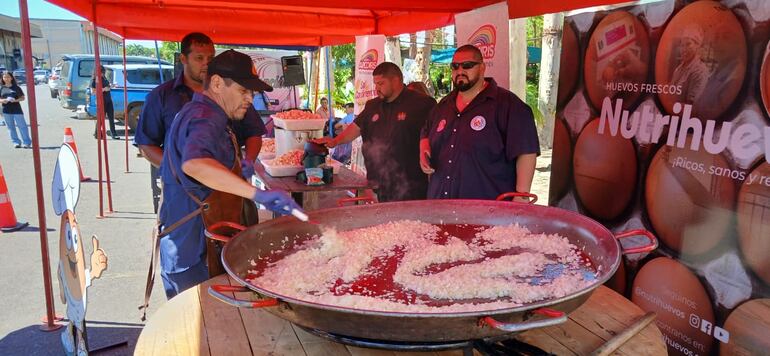
[[[457,46],[472,44],[484,57],[486,76],[508,88],[508,3],[501,2],[455,15]]]

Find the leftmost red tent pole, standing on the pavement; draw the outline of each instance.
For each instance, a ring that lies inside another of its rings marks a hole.
[[[21,15],[21,40],[24,49],[24,69],[27,76],[27,100],[29,100],[29,123],[32,130],[32,159],[35,166],[35,191],[37,193],[37,219],[40,227],[40,254],[43,260],[43,287],[45,288],[45,324],[40,326],[43,331],[54,331],[63,325],[56,323],[56,310],[53,304],[53,286],[51,284],[51,262],[48,256],[48,227],[45,221],[45,201],[43,196],[43,179],[40,168],[40,136],[37,127],[37,99],[35,97],[35,72],[32,66],[32,40],[30,39],[29,12],[27,0],[19,0]],[[32,88],[32,90],[30,90]]]

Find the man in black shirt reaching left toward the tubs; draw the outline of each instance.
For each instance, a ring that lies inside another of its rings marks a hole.
[[[380,63],[372,76],[378,97],[366,102],[342,134],[316,142],[334,147],[361,136],[366,177],[379,183],[377,200],[425,199],[428,176],[418,159],[420,130],[436,101],[406,89],[401,69],[393,63]]]

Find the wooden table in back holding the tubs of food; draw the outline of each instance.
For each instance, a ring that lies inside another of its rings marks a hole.
[[[292,193],[297,202],[305,210],[315,210],[319,208],[318,195],[321,192],[350,190],[358,196],[364,190],[375,189],[377,184],[369,181],[366,177],[351,171],[346,167],[340,167],[339,172],[334,175],[331,184],[307,185],[297,182],[295,177],[273,177],[265,171],[262,164],[254,165],[254,176],[256,186],[262,189],[283,189]]]

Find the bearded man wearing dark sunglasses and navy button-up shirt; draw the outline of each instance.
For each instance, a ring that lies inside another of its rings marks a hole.
[[[428,199],[528,193],[540,154],[532,110],[484,78],[478,48],[458,48],[451,68],[455,90],[439,102],[421,134],[420,166],[432,174]]]

